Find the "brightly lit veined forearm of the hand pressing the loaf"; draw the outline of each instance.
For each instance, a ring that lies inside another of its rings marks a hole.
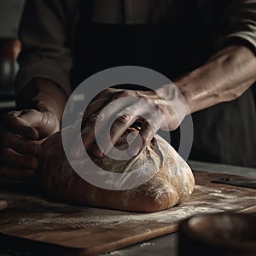
[[[246,46],[232,45],[175,84],[188,102],[190,112],[194,113],[235,100],[255,80],[255,55]]]

